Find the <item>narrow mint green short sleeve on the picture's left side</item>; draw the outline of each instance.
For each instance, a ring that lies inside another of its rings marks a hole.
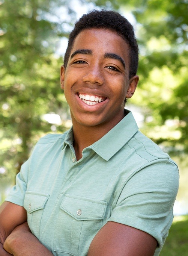
[[[29,160],[22,166],[20,172],[16,176],[16,185],[12,187],[5,201],[23,206],[25,192],[27,189],[27,180],[29,173]]]

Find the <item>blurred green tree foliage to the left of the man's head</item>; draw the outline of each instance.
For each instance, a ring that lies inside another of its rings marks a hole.
[[[55,3],[59,1],[1,1],[1,186],[20,170],[42,134],[65,130],[68,107],[59,85],[62,58],[54,52],[59,36],[67,33],[57,19],[53,21]],[[68,5],[66,8],[72,16]],[[61,128],[42,119],[50,111],[62,117]]]

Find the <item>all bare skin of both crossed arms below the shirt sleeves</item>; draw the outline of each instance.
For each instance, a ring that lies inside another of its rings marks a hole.
[[[30,232],[22,206],[4,202],[0,206],[1,256],[53,256]],[[87,256],[153,256],[157,242],[148,233],[109,221],[96,234]]]

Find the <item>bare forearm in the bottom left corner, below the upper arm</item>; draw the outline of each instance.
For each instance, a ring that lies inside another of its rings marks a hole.
[[[30,232],[27,223],[13,230],[4,243],[4,249],[14,256],[53,256],[53,254]]]

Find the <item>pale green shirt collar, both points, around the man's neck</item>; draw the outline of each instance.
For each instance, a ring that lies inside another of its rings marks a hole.
[[[87,148],[92,148],[99,156],[108,161],[119,151],[138,131],[137,123],[131,111],[116,126],[114,126],[101,139]],[[72,127],[67,131],[63,147],[73,144]]]

